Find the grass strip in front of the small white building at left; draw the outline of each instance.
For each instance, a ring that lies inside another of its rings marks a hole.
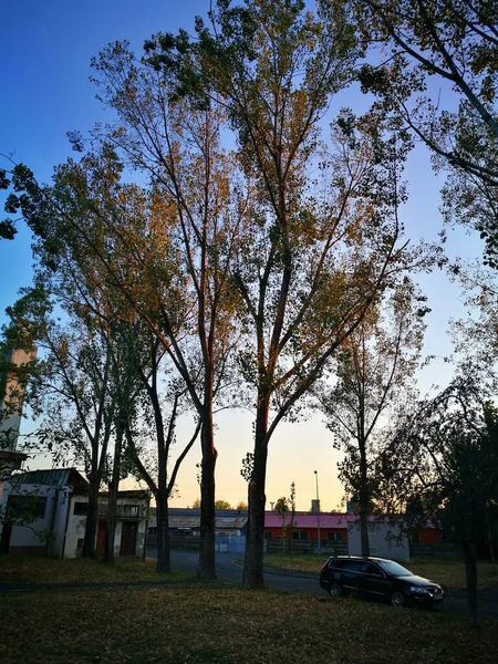
[[[0,556],[0,581],[11,583],[92,583],[102,581],[164,581],[157,574],[156,561],[117,562],[107,566],[87,558],[54,559]],[[183,580],[185,574],[168,574],[168,581]],[[1,612],[0,612],[1,613]]]

